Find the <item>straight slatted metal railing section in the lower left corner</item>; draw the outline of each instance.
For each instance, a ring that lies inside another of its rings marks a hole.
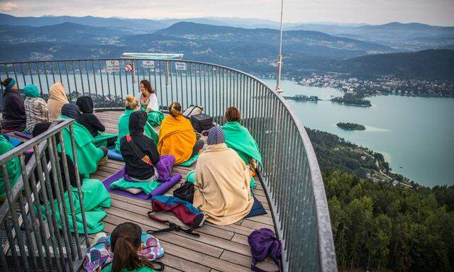
[[[60,159],[55,156],[59,152],[57,142],[63,143],[61,131],[68,126],[74,147],[72,123],[74,120],[57,121],[48,131],[0,156],[2,186],[6,189],[6,200],[0,207],[1,271],[78,271],[82,266],[89,239],[81,181],[76,175],[82,235],[70,231],[77,229],[73,202],[76,194],[66,193],[69,201],[65,200],[63,181],[66,188],[71,185],[69,179],[62,179],[62,173],[69,173],[67,167],[60,171]],[[33,154],[26,157],[24,153],[30,153],[30,149]],[[77,156],[75,149],[66,150],[65,145],[60,145],[60,152],[62,165],[67,163],[66,152]],[[20,166],[20,176],[13,179],[6,168],[11,162]],[[74,168],[77,172],[77,159]]]

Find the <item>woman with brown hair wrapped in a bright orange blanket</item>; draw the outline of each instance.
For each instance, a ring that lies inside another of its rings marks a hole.
[[[184,118],[182,106],[178,102],[170,105],[169,112],[170,115],[162,120],[157,151],[160,155],[174,155],[175,164],[181,164],[198,153],[204,147],[204,142],[196,140],[191,121]]]

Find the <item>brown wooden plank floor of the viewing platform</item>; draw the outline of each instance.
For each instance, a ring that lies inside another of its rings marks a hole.
[[[108,111],[96,113],[96,115],[106,126],[106,132],[116,133],[117,121],[121,112]],[[101,166],[92,175],[92,178],[102,181],[121,169],[123,164],[123,162],[109,160],[106,166]],[[192,169],[194,166],[175,166],[173,171],[182,174],[183,179],[180,181],[182,183],[186,174]],[[171,194],[180,183],[177,183],[166,194]],[[262,227],[274,229],[270,206],[267,203],[262,184],[258,180],[255,181],[255,184],[257,186],[253,193],[267,210],[267,215],[243,219],[228,226],[216,226],[206,222],[204,227],[196,230],[200,233],[200,237],[193,237],[183,232],[156,234],[165,250],[165,255],[160,259],[165,263],[165,271],[250,271],[251,257],[248,235],[254,229]],[[166,227],[147,217],[147,212],[151,210],[150,202],[116,194],[111,194],[111,198],[112,207],[105,209],[107,217],[104,218],[104,232],[111,232],[116,225],[122,222],[135,222],[142,227],[143,231]],[[160,213],[159,216],[182,225],[174,215]],[[260,267],[267,271],[276,270],[275,265],[269,262],[260,263]]]

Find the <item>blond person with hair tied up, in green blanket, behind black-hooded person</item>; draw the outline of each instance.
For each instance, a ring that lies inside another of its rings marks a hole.
[[[118,138],[115,144],[115,150],[118,153],[121,153],[120,151],[121,138],[129,134],[129,118],[132,113],[137,111],[138,99],[135,98],[134,96],[126,96],[125,108],[126,109],[123,115],[121,115],[120,118],[118,118]],[[155,144],[157,145],[159,135],[157,134],[156,130],[150,125],[150,123],[147,122],[143,130],[145,132],[145,135],[150,137],[151,140],[153,140],[153,142],[155,142]]]

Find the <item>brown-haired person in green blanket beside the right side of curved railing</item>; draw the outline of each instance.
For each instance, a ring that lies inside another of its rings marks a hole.
[[[240,124],[241,114],[238,108],[229,107],[226,110],[227,123],[221,127],[226,135],[226,145],[235,150],[245,164],[250,165],[251,171],[257,169],[257,163],[262,166],[262,156],[254,137],[247,128]],[[253,188],[255,184],[251,182]]]

